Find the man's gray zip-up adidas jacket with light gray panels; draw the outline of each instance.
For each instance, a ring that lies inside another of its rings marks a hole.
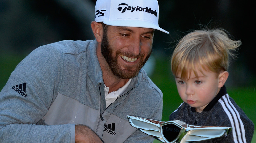
[[[60,41],[23,59],[0,92],[0,142],[75,142],[75,124],[105,143],[153,142],[127,115],[161,120],[162,92],[141,69],[107,109],[97,41]]]

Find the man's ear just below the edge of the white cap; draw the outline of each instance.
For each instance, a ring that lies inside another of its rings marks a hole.
[[[101,23],[96,21],[92,21],[91,27],[93,30],[94,37],[96,38],[97,42],[100,43],[103,38],[103,27]]]

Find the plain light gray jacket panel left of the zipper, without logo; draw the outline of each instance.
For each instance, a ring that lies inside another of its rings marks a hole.
[[[98,112],[75,99],[58,93],[43,119],[47,125],[84,124],[90,126],[97,125]],[[95,127],[91,128],[94,130]]]

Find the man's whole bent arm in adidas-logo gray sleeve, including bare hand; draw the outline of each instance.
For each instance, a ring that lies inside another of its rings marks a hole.
[[[42,118],[58,94],[63,72],[61,53],[51,45],[43,47],[18,64],[0,92],[0,141],[75,142],[75,137],[100,141],[86,126],[87,130],[79,130],[83,126],[38,125],[44,124]]]

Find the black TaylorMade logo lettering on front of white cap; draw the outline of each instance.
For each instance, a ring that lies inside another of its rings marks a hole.
[[[144,11],[144,12],[151,13],[151,14],[157,16],[157,11],[156,10],[155,11],[151,10],[151,8],[148,8],[148,7],[146,7],[146,8],[142,8],[142,7],[139,7],[139,6],[133,7],[133,6],[128,6],[128,4],[126,4],[126,3],[121,3],[118,6],[122,6],[122,5],[124,5],[126,7],[124,7],[124,8],[123,7],[118,7],[117,8],[119,11],[121,11],[123,9],[122,13],[124,13],[126,10],[130,10],[131,12],[139,10],[139,11]]]

